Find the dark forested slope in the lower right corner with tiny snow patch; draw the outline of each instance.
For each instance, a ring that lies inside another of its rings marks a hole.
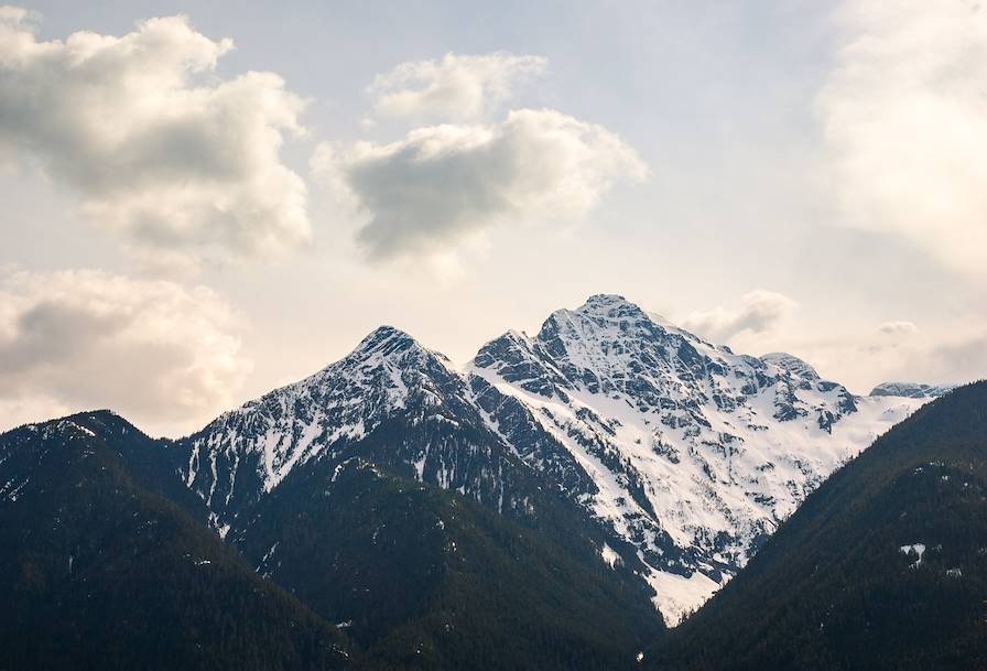
[[[914,544],[921,562],[901,550]],[[987,669],[987,382],[922,408],[834,474],[646,663]]]

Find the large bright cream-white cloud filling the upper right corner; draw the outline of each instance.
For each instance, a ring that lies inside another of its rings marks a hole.
[[[973,0],[856,0],[818,97],[845,225],[961,272],[987,256],[987,11]]]

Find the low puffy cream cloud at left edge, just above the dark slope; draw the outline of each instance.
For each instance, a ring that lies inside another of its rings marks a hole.
[[[205,288],[100,271],[0,275],[0,425],[111,408],[196,428],[250,369],[237,320]]]

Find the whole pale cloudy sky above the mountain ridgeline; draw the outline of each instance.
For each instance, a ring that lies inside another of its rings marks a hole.
[[[0,430],[178,436],[375,327],[617,293],[866,393],[987,377],[987,10],[0,8]]]

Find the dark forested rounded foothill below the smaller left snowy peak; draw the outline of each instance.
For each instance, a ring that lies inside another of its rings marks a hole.
[[[344,624],[368,669],[632,669],[663,630],[641,581],[562,512],[546,506],[542,533],[361,457],[328,465],[293,472],[239,544]]]

